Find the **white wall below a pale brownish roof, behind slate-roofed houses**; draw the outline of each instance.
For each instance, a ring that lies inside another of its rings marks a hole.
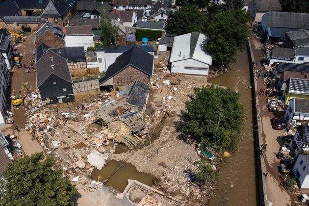
[[[93,36],[65,36],[64,37],[66,47],[84,47],[87,50],[88,47],[94,47]]]

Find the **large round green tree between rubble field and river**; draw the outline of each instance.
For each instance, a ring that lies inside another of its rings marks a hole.
[[[185,104],[189,122],[182,131],[216,150],[236,149],[244,121],[243,106],[238,103],[240,94],[214,85],[195,88],[194,94]]]

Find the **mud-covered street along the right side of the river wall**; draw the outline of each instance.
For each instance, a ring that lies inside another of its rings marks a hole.
[[[252,32],[250,33],[250,44],[253,49],[254,59],[259,61],[261,59],[261,55],[264,54],[262,51],[263,45]],[[257,68],[260,67],[261,64],[258,62]],[[257,82],[257,90],[260,88],[266,88],[262,77],[259,77]],[[283,133],[280,130],[272,129],[270,119],[275,117],[275,115],[267,110],[266,99],[267,97],[263,95],[258,96],[259,108],[261,111],[259,116],[262,122],[263,143],[267,144],[267,150],[264,157],[266,169],[268,172],[268,176],[266,178],[267,201],[272,202],[274,206],[292,205],[294,202],[294,200],[292,201],[293,198],[285,191],[280,183],[281,180],[278,169],[280,160],[276,157],[276,154],[278,153],[281,146],[281,138],[279,136],[282,136]]]

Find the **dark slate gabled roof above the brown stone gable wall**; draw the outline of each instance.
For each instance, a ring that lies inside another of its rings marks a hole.
[[[100,83],[115,76],[128,66],[132,66],[147,75],[152,75],[154,56],[139,47],[133,46],[116,58],[116,61],[108,67],[105,76],[100,79]]]

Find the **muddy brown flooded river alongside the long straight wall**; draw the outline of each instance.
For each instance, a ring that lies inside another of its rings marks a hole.
[[[239,151],[225,159],[219,173],[215,197],[209,206],[255,206],[257,205],[257,182],[254,136],[252,130],[252,101],[250,69],[247,51],[238,52],[232,70],[208,82],[230,87],[241,93],[240,103],[244,105],[246,120],[243,129],[243,140]],[[248,129],[247,129],[248,128]]]

